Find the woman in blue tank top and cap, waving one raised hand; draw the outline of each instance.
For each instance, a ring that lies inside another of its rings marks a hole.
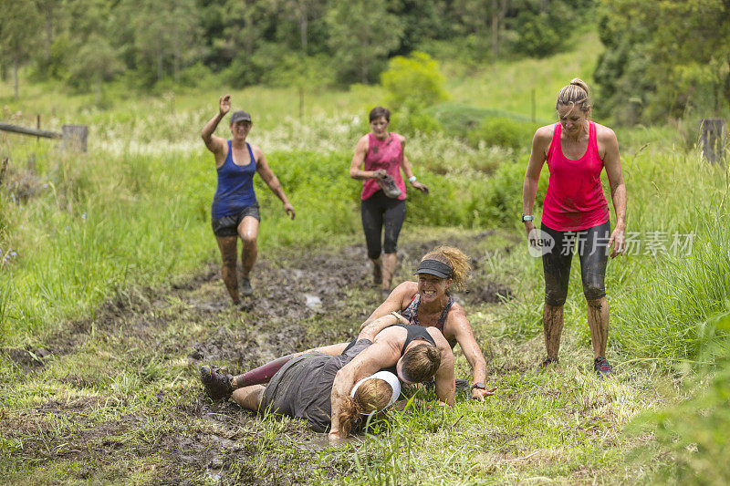
[[[236,111],[231,116],[232,140],[224,140],[214,135],[218,123],[230,109],[231,95],[221,97],[218,100],[218,113],[205,124],[201,136],[205,147],[214,154],[215,169],[218,172],[218,186],[211,205],[211,222],[223,259],[221,274],[228,294],[234,304],[239,304],[241,297],[238,294],[238,278],[235,274],[238,238],[243,242],[241,295],[253,294],[249,274],[258,253],[256,239],[261,217],[254,192],[254,174],[258,172],[269,189],[284,203],[284,211],[291,219],[294,219],[295,213],[276,175],[268,167],[264,152],[245,141],[252,125],[248,113]]]

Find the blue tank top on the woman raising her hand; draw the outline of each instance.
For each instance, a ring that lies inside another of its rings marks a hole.
[[[236,165],[231,140],[228,140],[228,155],[218,168],[218,187],[215,188],[211,205],[211,216],[215,219],[240,214],[245,208],[257,203],[254,193],[256,160],[251,145],[246,142],[245,146],[251,162],[243,166]]]

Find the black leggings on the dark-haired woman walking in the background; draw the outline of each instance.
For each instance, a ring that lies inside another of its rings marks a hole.
[[[360,204],[362,229],[368,245],[368,257],[375,259],[382,253],[395,253],[398,234],[405,220],[405,200],[391,199],[377,191]],[[381,233],[385,226],[385,238],[381,245]]]

